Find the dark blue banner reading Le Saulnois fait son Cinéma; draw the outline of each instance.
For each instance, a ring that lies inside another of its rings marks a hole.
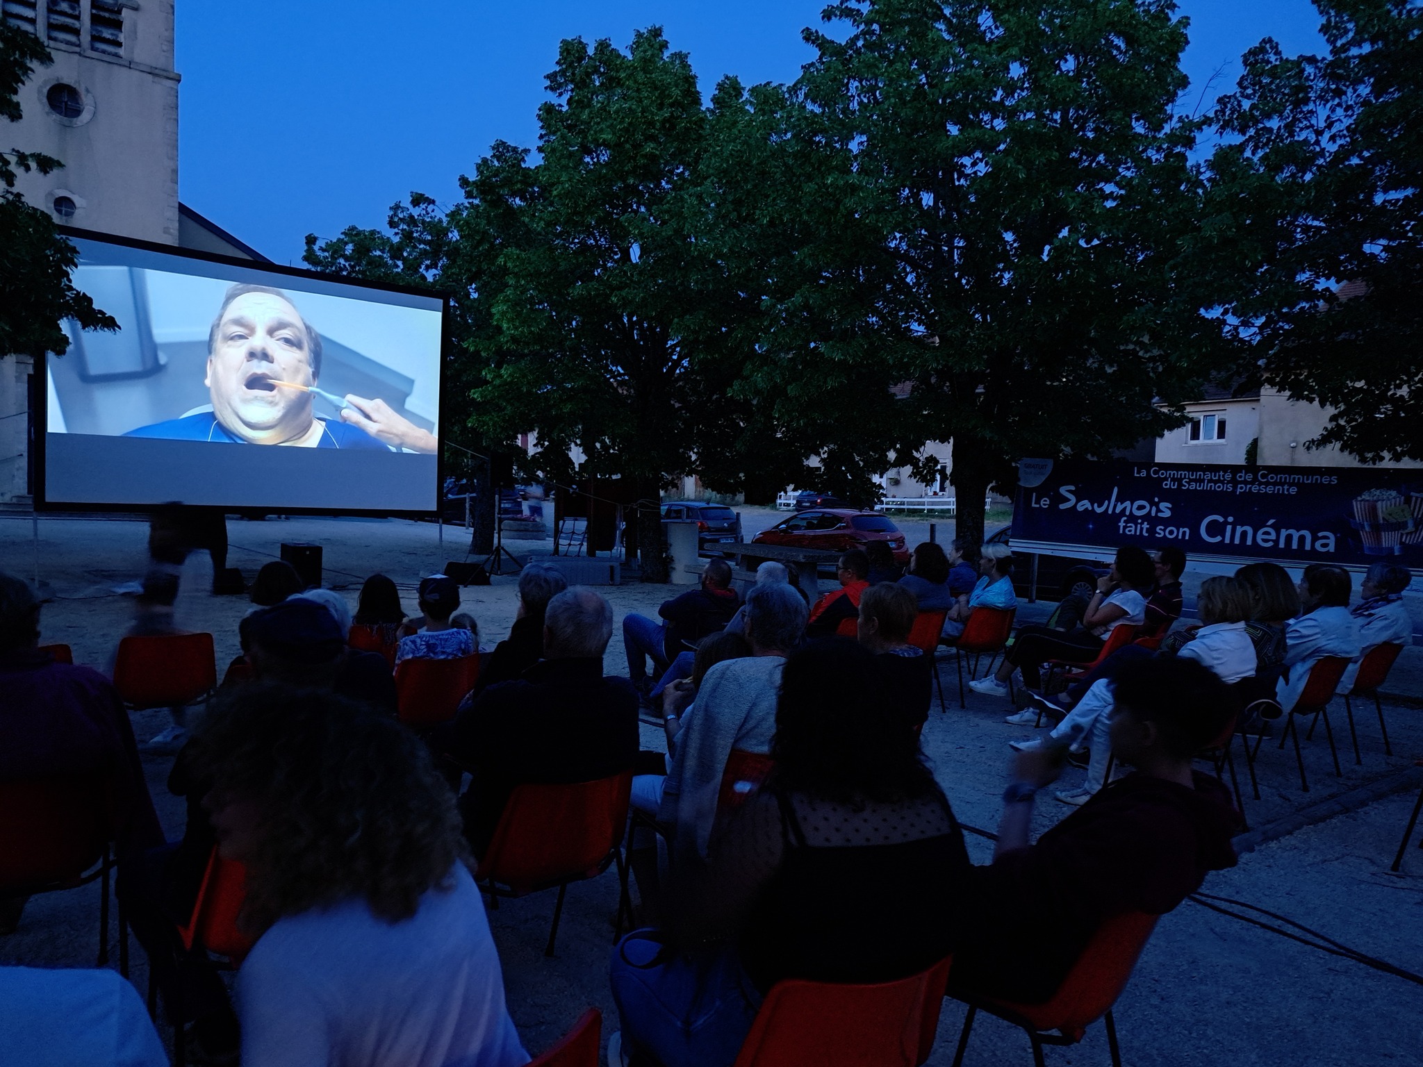
[[[1023,461],[1019,481],[1015,545],[1423,568],[1423,469],[1059,460]]]

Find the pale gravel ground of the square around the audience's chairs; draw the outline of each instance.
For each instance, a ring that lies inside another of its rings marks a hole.
[[[748,511],[743,509],[747,535],[754,532]],[[764,512],[768,521],[774,515]],[[901,525],[911,543],[928,534],[926,524]],[[952,536],[946,525],[939,525],[939,539]],[[353,605],[360,580],[379,569],[403,586],[410,607],[414,582],[445,559],[461,558],[465,543],[462,531],[447,529],[441,549],[434,526],[404,521],[233,521],[229,536],[231,563],[249,579],[279,553],[280,542],[314,541],[324,546],[327,585],[342,590]],[[145,538],[147,526],[141,522],[41,519],[40,576],[54,595],[41,617],[46,642],[67,642],[77,662],[105,669],[132,617],[131,598],[115,595],[112,586],[141,578]],[[528,549],[546,552],[549,542],[511,546],[522,555]],[[33,575],[28,519],[0,519],[0,566]],[[515,610],[514,580],[497,576],[492,586],[464,590],[465,607],[478,619],[485,642],[508,632]],[[208,562],[195,556],[185,573],[178,622],[188,629],[211,630],[218,662],[225,664],[238,652],[236,622],[249,605],[242,598],[208,596]],[[667,586],[643,585],[602,592],[618,617],[628,612],[652,615],[670,595]],[[1039,610],[1046,613],[1046,606],[1023,605],[1020,616],[1032,620]],[[625,670],[616,626],[606,666],[609,671]],[[1025,731],[1002,723],[1003,713],[1010,710],[1006,701],[969,693],[968,707],[961,710],[952,660],[943,660],[942,670],[948,710],[932,713],[924,734],[925,751],[961,819],[992,829],[1006,773],[1006,741]],[[1259,801],[1249,794],[1245,765],[1238,761],[1251,822],[1269,825],[1328,798],[1342,800],[1345,807],[1358,805],[1370,787],[1385,791],[1390,782],[1407,781],[1413,757],[1423,755],[1420,687],[1412,667],[1400,673],[1396,689],[1402,700],[1386,701],[1392,758],[1383,754],[1372,708],[1365,708],[1359,716],[1362,764],[1356,767],[1343,708],[1336,706],[1332,717],[1342,778],[1335,778],[1328,747],[1318,734],[1305,748],[1309,794],[1299,791],[1288,748],[1279,751],[1266,743],[1261,750]],[[141,738],[155,734],[165,718],[161,711],[138,713],[135,733]],[[645,727],[643,745],[660,748],[660,731]],[[166,758],[145,760],[159,817],[168,835],[178,837],[184,809],[165,788],[169,765]],[[1064,784],[1074,785],[1080,774],[1070,771],[1073,777]],[[1385,795],[1268,841],[1244,855],[1235,869],[1212,875],[1205,891],[1271,908],[1346,945],[1420,972],[1423,852],[1410,849],[1403,872],[1387,872],[1416,790],[1414,785],[1409,792]],[[1052,800],[1040,804],[1036,831],[1042,832],[1067,811]],[[979,838],[970,838],[969,844],[975,858],[986,862],[989,844]],[[97,905],[97,886],[36,898],[20,930],[0,939],[0,963],[92,966]],[[616,1029],[606,980],[616,878],[608,874],[569,889],[558,957],[545,959],[542,949],[552,908],[554,893],[538,893],[504,901],[490,916],[504,962],[509,1009],[535,1053],[552,1044],[588,1004],[598,1004],[606,1013],[605,1033]],[[137,947],[134,960],[132,977],[142,990],[147,972]],[[1423,989],[1416,984],[1185,903],[1158,925],[1116,1014],[1128,1064],[1284,1066],[1423,1063],[1420,1010]],[[945,1004],[931,1064],[951,1063],[962,1019],[959,1006]],[[1047,1056],[1050,1064],[1107,1063],[1101,1027],[1094,1027],[1083,1044],[1049,1050]],[[975,1024],[968,1064],[1029,1061],[1027,1041],[1020,1033],[985,1017]]]

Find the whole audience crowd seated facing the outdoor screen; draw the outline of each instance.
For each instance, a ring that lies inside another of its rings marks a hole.
[[[208,1061],[504,1067],[528,1054],[471,872],[519,785],[630,775],[640,926],[612,953],[609,1063],[730,1064],[788,977],[885,982],[952,953],[951,990],[1050,999],[1104,922],[1168,912],[1235,862],[1239,812],[1195,753],[1261,697],[1289,713],[1322,657],[1350,660],[1349,691],[1365,654],[1412,640],[1403,566],[1375,563],[1350,609],[1342,568],[1309,565],[1296,586],[1251,563],[1205,579],[1183,623],[1185,563],[1121,546],[1090,595],[1019,626],[970,683],[1007,697],[1016,679],[1026,706],[1007,723],[1049,727],[1012,741],[988,865],[969,861],[919,745],[936,649],[975,613],[1017,606],[1009,548],[963,539],[918,545],[905,570],[884,543],[851,549],[814,603],[776,562],[743,598],[713,558],[657,619],[620,620],[626,676],[605,670],[609,602],[548,563],[524,568],[514,625],[487,652],[451,578],[423,579],[407,616],[371,575],[353,615],[268,563],[201,723],[189,734],[175,714],[154,738],[188,805],[172,842],[114,684],[44,652],[40,605],[0,573],[0,784],[102,778],[127,920],[166,1017]],[[162,632],[145,612],[139,632]],[[444,721],[401,721],[417,660],[468,666]],[[1079,673],[1053,686],[1049,662]],[[660,720],[665,753],[640,751],[639,717]],[[1086,782],[1056,797],[1076,811],[1033,844],[1035,798],[1069,760]],[[235,1004],[181,936],[218,859],[246,872],[238,926],[253,947]],[[24,905],[0,899],[0,933]],[[100,989],[77,973],[46,997]],[[114,1010],[131,1016],[129,1000]]]

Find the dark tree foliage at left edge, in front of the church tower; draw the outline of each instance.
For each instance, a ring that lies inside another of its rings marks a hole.
[[[50,51],[31,33],[0,21],[0,117],[20,121],[20,87]],[[50,174],[63,166],[38,152],[0,152],[0,354],[63,354],[70,340],[60,322],[87,330],[117,330],[110,316],[70,282],[78,252],[54,228],[50,213],[16,192],[18,171]]]

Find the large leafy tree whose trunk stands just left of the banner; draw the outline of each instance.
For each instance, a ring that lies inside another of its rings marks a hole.
[[[1157,437],[1229,357],[1201,310],[1218,279],[1184,269],[1202,195],[1200,124],[1175,111],[1185,20],[1168,0],[851,0],[824,18],[845,33],[807,31],[783,138],[820,161],[798,253],[815,272],[758,378],[790,424],[825,368],[874,377],[874,410],[899,386],[895,462],[952,438],[959,531],[980,538],[1017,458]]]

